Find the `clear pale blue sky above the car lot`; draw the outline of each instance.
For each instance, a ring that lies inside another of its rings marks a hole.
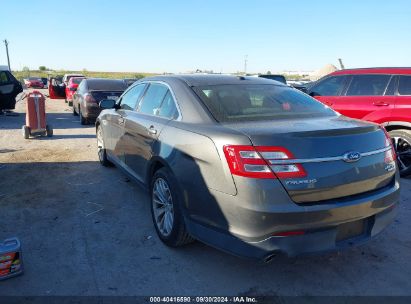
[[[12,69],[214,72],[411,66],[408,0],[0,0]],[[6,64],[4,44],[0,65]]]

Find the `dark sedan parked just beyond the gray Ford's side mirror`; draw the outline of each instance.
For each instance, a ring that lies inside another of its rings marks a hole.
[[[103,99],[117,100],[127,89],[127,84],[118,79],[83,79],[73,94],[73,114],[80,116],[80,123],[86,125],[95,121],[101,109],[98,104]]]

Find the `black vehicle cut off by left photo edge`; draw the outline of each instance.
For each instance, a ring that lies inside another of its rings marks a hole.
[[[8,68],[0,66],[0,113],[3,110],[13,110],[16,106],[16,96],[21,92],[21,83]]]

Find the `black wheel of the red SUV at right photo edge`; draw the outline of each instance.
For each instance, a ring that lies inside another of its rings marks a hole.
[[[411,174],[411,130],[393,130],[388,132],[397,154],[397,164],[401,177]]]

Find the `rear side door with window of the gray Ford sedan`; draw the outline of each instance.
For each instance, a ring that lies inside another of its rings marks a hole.
[[[125,121],[127,139],[126,164],[136,177],[145,182],[148,164],[158,136],[178,111],[171,89],[164,83],[151,82],[136,112]]]

